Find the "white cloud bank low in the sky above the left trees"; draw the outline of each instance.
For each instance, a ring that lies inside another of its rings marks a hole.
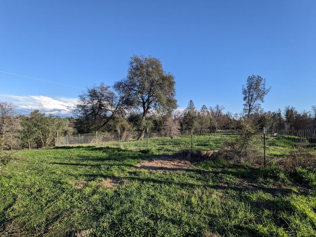
[[[61,117],[70,117],[77,104],[77,98],[51,98],[48,96],[17,96],[0,94],[1,101],[9,101],[16,105],[16,109],[21,114],[29,114],[34,110],[41,113],[53,114]]]

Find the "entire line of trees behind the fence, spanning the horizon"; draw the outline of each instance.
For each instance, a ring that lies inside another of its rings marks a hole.
[[[260,103],[271,87],[260,76],[249,76],[242,85],[244,109],[240,114],[224,113],[222,105],[197,109],[193,100],[186,109],[177,110],[175,80],[151,56],[132,56],[126,78],[113,86],[94,85],[79,95],[73,117],[60,118],[34,110],[18,115],[15,105],[0,101],[0,150],[37,149],[54,145],[56,132],[72,135],[120,130],[121,136],[145,130],[175,137],[181,130],[216,131],[240,129],[244,122],[256,129],[316,129],[316,106],[298,112],[287,106],[283,111],[265,112]]]

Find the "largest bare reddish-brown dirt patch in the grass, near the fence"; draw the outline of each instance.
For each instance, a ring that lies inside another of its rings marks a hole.
[[[171,157],[160,157],[158,159],[144,160],[135,166],[145,170],[170,170],[181,171],[189,168],[190,160],[180,160]]]

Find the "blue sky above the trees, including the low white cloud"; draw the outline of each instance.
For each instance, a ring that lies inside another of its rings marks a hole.
[[[20,112],[70,116],[85,88],[125,78],[133,54],[175,76],[180,109],[240,113],[241,86],[259,75],[272,87],[265,111],[309,111],[316,1],[0,1],[0,101]]]

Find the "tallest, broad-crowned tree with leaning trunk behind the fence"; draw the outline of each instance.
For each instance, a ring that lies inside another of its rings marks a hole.
[[[166,115],[177,108],[174,86],[173,75],[163,71],[157,58],[131,57],[127,77],[117,81],[114,88],[120,94],[125,108],[141,114],[140,140],[144,138],[144,124],[151,112]]]

